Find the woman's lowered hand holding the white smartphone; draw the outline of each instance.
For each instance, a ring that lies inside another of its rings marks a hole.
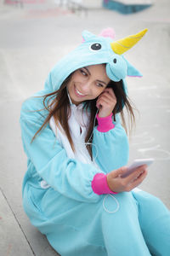
[[[147,175],[147,166],[139,166],[136,170],[127,177],[122,177],[122,174],[127,172],[127,166],[123,166],[115,171],[107,174],[107,183],[111,191],[129,192],[143,182]]]

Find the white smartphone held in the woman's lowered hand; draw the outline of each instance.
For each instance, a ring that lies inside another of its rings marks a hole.
[[[127,177],[129,174],[134,172],[137,167],[147,165],[150,166],[153,163],[153,158],[147,158],[147,159],[136,159],[133,161],[133,163],[130,166],[127,166],[127,172],[122,174],[122,177]]]

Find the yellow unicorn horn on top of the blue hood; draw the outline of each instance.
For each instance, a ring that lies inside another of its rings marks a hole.
[[[143,31],[137,33],[136,35],[129,36],[127,38],[122,38],[116,42],[111,43],[111,49],[117,54],[122,55],[128,49],[131,49],[134,44],[137,44],[138,41],[144,37],[145,32],[148,29],[145,28]]]

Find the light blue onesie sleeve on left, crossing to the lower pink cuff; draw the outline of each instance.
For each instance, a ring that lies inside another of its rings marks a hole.
[[[41,111],[30,111],[30,105],[23,104],[20,125],[26,154],[38,175],[62,195],[77,201],[98,201],[99,195],[94,193],[91,183],[101,171],[93,165],[69,159],[49,125],[31,143],[44,117]]]

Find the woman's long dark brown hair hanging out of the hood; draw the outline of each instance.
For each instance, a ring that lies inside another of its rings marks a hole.
[[[65,79],[63,84],[61,84],[59,90],[56,90],[52,93],[42,96],[43,106],[45,109],[48,110],[48,116],[44,120],[40,129],[36,132],[36,134],[32,138],[31,142],[33,142],[34,139],[37,137],[38,133],[48,125],[49,119],[51,119],[51,117],[54,116],[55,124],[58,127],[59,125],[61,125],[62,129],[65,131],[66,137],[71,143],[72,150],[75,151],[74,143],[72,141],[71,133],[68,125],[68,119],[71,114],[71,107],[70,107],[70,101],[69,101],[69,98],[67,95],[67,89],[66,89],[67,84],[71,80],[71,76],[72,74],[67,79]],[[111,81],[107,86],[111,87],[114,90],[114,93],[116,95],[116,107],[113,109],[114,119],[115,119],[116,113],[120,113],[122,117],[122,125],[127,131],[127,125],[126,125],[123,109],[124,107],[127,109],[131,126],[133,126],[134,124],[134,113],[133,113],[133,107],[131,106],[131,103],[124,91],[122,80],[120,82]],[[98,111],[98,108],[96,108],[96,101],[97,101],[97,98],[94,100],[84,102],[84,107],[83,107],[87,111],[88,109],[90,109],[90,120],[89,120],[89,125],[87,127],[88,132],[87,132],[87,137],[85,138],[85,143],[87,143],[88,152],[91,155],[91,158],[92,158],[92,147],[90,143],[93,140],[92,133],[93,133],[94,125],[97,125],[97,120],[95,119],[96,113]]]

